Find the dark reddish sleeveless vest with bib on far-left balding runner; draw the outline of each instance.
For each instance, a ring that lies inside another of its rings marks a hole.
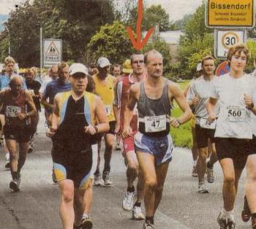
[[[12,97],[11,90],[4,93],[4,104],[1,109],[1,114],[5,117],[6,125],[26,125],[27,119],[19,120],[18,113],[26,113],[26,93],[21,90],[17,97]]]

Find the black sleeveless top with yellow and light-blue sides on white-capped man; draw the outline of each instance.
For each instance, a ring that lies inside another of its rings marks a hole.
[[[94,123],[91,117],[94,99],[95,95],[88,92],[78,101],[75,101],[71,92],[62,93],[59,127],[54,141],[74,152],[90,147],[91,136],[84,132],[84,127]]]

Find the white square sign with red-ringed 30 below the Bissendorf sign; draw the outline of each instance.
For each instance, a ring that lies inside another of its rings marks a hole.
[[[214,55],[220,59],[227,57],[227,50],[230,47],[244,43],[246,40],[246,32],[244,30],[215,29],[214,34]]]

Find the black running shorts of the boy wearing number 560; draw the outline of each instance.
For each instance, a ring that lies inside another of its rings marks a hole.
[[[251,140],[215,138],[215,147],[219,161],[231,158],[235,168],[243,169],[250,151]]]

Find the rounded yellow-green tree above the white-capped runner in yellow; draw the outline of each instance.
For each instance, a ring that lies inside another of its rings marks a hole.
[[[102,26],[91,37],[88,48],[95,61],[105,56],[111,63],[123,63],[135,51],[126,28],[118,21]]]

